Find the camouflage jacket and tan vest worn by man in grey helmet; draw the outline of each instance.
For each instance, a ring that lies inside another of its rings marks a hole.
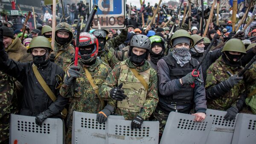
[[[148,91],[134,76],[130,68],[135,68],[143,76],[148,83]],[[108,75],[106,82],[99,89],[100,96],[109,98],[111,88],[120,83],[123,83],[122,89],[128,99],[124,99],[122,102],[116,102],[113,99],[108,101],[108,104],[116,109],[115,114],[124,116],[126,120],[132,120],[137,115],[145,120],[149,118],[158,102],[156,71],[147,61],[143,66],[136,67],[130,59],[127,59],[117,65]]]

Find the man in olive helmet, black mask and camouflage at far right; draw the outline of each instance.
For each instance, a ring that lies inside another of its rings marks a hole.
[[[224,54],[207,70],[205,85],[207,107],[227,110],[224,118],[232,120],[241,111],[246,97],[243,77],[238,76],[243,69],[240,60],[246,51],[241,40],[231,39],[224,45],[221,52]]]

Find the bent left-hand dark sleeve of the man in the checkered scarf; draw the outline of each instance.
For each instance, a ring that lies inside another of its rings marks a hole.
[[[179,79],[171,80],[169,73],[168,65],[164,59],[160,59],[157,62],[157,76],[158,90],[162,96],[170,96],[182,88]]]

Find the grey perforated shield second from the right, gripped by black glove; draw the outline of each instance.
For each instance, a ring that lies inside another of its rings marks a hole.
[[[207,109],[206,116],[214,117],[206,144],[231,144],[236,126],[236,119],[224,119],[226,111]]]

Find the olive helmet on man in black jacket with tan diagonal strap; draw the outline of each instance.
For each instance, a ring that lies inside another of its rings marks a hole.
[[[29,48],[27,49],[27,53],[31,53],[31,50],[33,48],[48,48],[49,51],[52,51],[51,43],[46,37],[43,37],[43,36],[34,37],[31,40],[29,44]]]

